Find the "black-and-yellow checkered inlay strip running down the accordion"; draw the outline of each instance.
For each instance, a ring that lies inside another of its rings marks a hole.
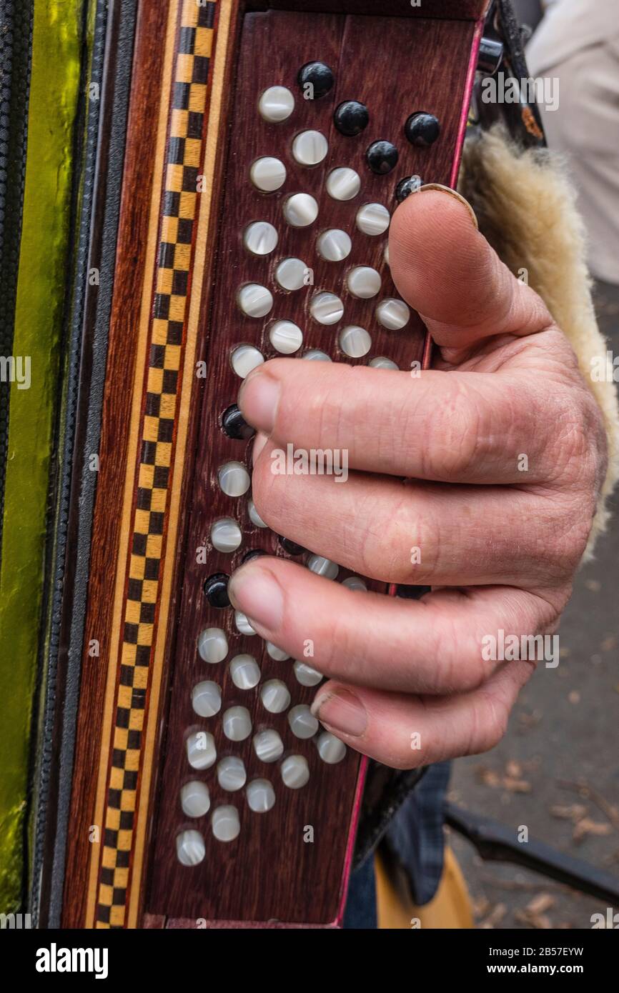
[[[174,56],[150,352],[96,901],[96,927],[125,923],[188,283],[203,157],[215,3],[183,0]]]

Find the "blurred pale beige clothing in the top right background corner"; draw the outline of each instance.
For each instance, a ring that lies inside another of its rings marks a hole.
[[[527,48],[532,76],[556,76],[558,107],[541,106],[587,226],[589,266],[619,284],[619,0],[557,0]]]

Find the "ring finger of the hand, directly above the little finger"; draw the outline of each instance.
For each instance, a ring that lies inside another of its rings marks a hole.
[[[292,658],[309,659],[332,678],[400,692],[479,686],[498,664],[484,657],[493,654],[484,638],[500,630],[533,636],[556,620],[552,607],[522,590],[442,589],[403,601],[272,558],[237,569],[229,594],[251,627]]]

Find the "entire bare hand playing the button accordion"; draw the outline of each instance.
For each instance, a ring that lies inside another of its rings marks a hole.
[[[436,190],[408,197],[392,217],[389,258],[436,343],[433,369],[413,377],[277,358],[247,376],[238,403],[259,432],[252,496],[269,527],[359,575],[432,592],[405,601],[352,591],[263,557],[234,573],[230,596],[293,658],[313,640],[307,661],[328,681],[312,709],[328,730],[410,769],[487,751],[505,733],[536,663],[485,660],[482,638],[556,630],[606,439],[569,344],[465,202]],[[290,442],[348,449],[348,482],[273,475],[270,453]]]

